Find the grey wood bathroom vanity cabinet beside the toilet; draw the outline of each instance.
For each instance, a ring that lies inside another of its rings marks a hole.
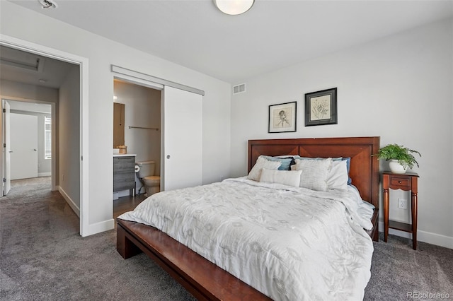
[[[130,190],[135,194],[135,156],[117,155],[113,157],[113,191]]]

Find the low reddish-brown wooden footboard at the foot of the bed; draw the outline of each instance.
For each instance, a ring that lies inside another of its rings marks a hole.
[[[197,300],[270,300],[258,290],[148,225],[117,219],[117,252],[144,252]]]

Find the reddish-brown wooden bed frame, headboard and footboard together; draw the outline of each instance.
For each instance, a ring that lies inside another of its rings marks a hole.
[[[378,240],[379,162],[371,155],[379,150],[379,137],[296,138],[248,141],[248,172],[259,155],[349,157],[352,184],[362,199],[376,209],[374,228]],[[180,244],[154,227],[117,219],[117,252],[124,259],[144,252],[198,300],[270,300],[258,290]]]

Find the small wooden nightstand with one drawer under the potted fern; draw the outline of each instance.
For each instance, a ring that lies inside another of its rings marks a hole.
[[[389,228],[412,233],[412,249],[417,249],[417,179],[415,172],[406,172],[405,174],[394,174],[392,172],[383,172],[384,189],[384,241],[387,242]],[[402,189],[411,191],[411,212],[412,225],[389,220],[389,189]]]

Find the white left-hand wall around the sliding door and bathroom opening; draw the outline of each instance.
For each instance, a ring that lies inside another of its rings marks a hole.
[[[113,228],[111,64],[205,90],[203,182],[219,181],[229,175],[229,83],[34,13],[10,1],[0,1],[0,33],[88,59],[88,233]]]

